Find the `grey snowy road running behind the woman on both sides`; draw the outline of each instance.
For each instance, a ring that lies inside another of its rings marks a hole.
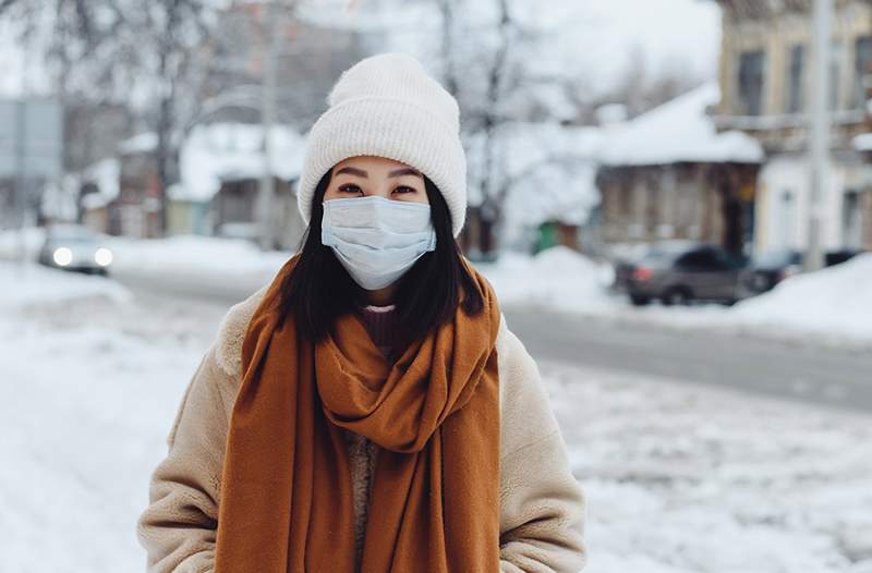
[[[218,282],[196,276],[117,272],[133,292],[177,304],[229,307],[268,278]],[[505,308],[506,319],[536,358],[579,367],[726,386],[783,398],[872,411],[872,353],[739,336],[670,329],[630,314],[618,318]]]

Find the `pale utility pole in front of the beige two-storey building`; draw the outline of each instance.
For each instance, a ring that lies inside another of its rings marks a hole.
[[[832,46],[833,0],[814,0],[814,60],[811,115],[809,242],[804,269],[814,271],[823,267],[821,249],[821,219],[824,208],[827,167],[829,163],[829,51]]]

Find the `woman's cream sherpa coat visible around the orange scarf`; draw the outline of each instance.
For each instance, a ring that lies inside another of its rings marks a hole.
[[[242,340],[265,292],[266,286],[228,312],[181,400],[167,437],[169,452],[152,475],[149,505],[136,528],[149,573],[213,571],[221,465],[240,380]],[[586,557],[583,492],[572,477],[536,364],[505,317],[497,353],[500,572],[576,573]],[[348,442],[360,528],[366,517],[364,479],[375,448],[353,437]]]

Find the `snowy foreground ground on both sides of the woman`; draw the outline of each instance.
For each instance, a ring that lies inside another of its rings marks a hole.
[[[143,571],[148,477],[225,308],[8,263],[0,283],[0,571]],[[540,366],[586,571],[872,572],[868,417]]]

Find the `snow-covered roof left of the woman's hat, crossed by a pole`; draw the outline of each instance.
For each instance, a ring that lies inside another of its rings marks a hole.
[[[283,180],[300,175],[305,139],[292,127],[271,130],[270,172]],[[180,187],[174,198],[209,200],[222,181],[258,179],[264,173],[263,129],[251,123],[197,125],[179,153]]]

